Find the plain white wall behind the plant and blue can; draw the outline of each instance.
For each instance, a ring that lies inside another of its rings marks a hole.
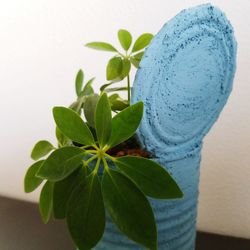
[[[117,44],[116,31],[156,33],[181,9],[206,1],[0,1],[0,194],[25,195],[23,176],[33,144],[54,141],[51,108],[74,98],[79,68],[104,79],[108,53],[83,47],[93,40]],[[231,20],[238,69],[233,93],[205,140],[199,229],[250,238],[250,1],[212,1]]]

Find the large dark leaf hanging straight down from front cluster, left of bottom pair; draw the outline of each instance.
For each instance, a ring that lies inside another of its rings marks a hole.
[[[68,203],[67,225],[81,250],[92,249],[101,239],[105,228],[105,210],[96,174],[92,173],[74,190]]]

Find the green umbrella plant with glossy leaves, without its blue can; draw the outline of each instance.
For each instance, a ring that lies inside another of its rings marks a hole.
[[[118,36],[127,51],[132,38],[125,30],[120,30]],[[149,38],[145,37],[149,35],[137,39],[132,53],[148,44]],[[117,52],[107,43],[88,46]],[[123,63],[126,60],[133,63],[131,59],[135,56],[119,53],[115,58],[119,57]],[[108,70],[113,67],[111,60]],[[126,77],[128,74],[129,71]],[[170,174],[155,161],[110,153],[112,148],[135,136],[143,116],[143,103],[123,105],[117,93],[108,97],[104,87],[100,95],[94,93],[93,78],[86,84],[83,82],[80,70],[75,81],[77,100],[69,108],[53,108],[58,147],[44,140],[34,146],[31,157],[36,162],[25,175],[25,192],[32,192],[45,182],[39,201],[44,223],[51,214],[55,219],[66,219],[72,239],[81,250],[91,249],[100,241],[106,212],[128,238],[146,248],[157,249],[155,218],[146,196],[171,199],[183,194]],[[127,89],[130,93],[130,86]],[[119,112],[112,117],[112,110]]]

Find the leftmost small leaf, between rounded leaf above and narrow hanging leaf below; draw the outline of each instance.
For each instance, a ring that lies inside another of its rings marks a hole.
[[[24,177],[24,191],[26,193],[33,192],[42,182],[43,179],[36,177],[36,172],[43,164],[44,160],[32,164]]]

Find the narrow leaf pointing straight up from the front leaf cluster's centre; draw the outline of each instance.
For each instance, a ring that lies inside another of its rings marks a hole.
[[[111,134],[111,108],[106,93],[100,97],[95,110],[95,128],[100,147],[106,145]]]

